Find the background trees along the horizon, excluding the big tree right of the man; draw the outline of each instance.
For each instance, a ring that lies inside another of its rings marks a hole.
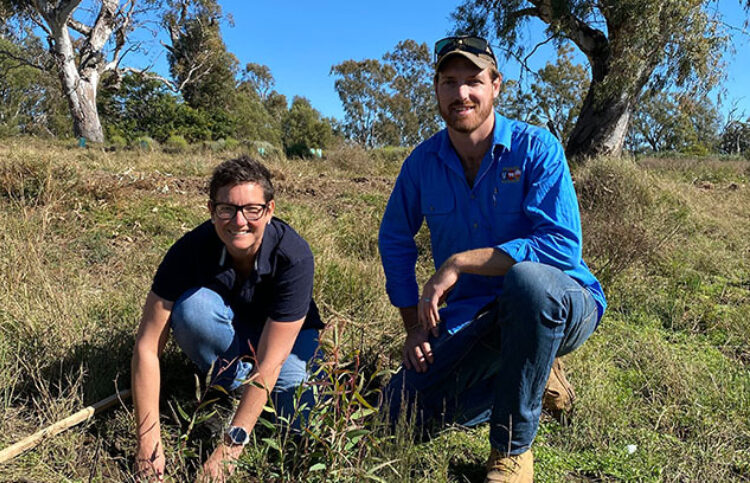
[[[60,20],[49,14],[52,10],[34,5],[0,3],[0,136],[75,136],[118,145],[142,138],[172,144],[242,140],[270,143],[287,155],[305,156],[342,142],[413,146],[442,126],[434,99],[432,54],[424,43],[404,40],[382,59],[346,60],[332,66],[334,88],[344,110],[344,118],[336,120],[323,117],[302,96],[294,96],[290,103],[274,89],[275,79],[267,66],[248,63],[241,68],[222,39],[220,25],[225,17],[215,0],[171,0],[154,10],[169,36],[169,43],[164,43],[168,78],[120,65],[122,52],[138,48],[129,43],[128,34],[139,21],[153,20],[154,11],[143,17],[144,11],[120,6],[110,12],[111,18],[104,15],[100,18],[105,21],[87,26],[73,8],[60,29],[55,28]],[[72,4],[60,2],[53,10],[65,5]],[[471,11],[490,7],[473,1],[462,8],[454,13],[457,25],[471,26]],[[105,3],[101,9],[107,13]],[[109,30],[104,31],[107,21]],[[37,35],[40,26],[47,30],[47,46]],[[98,45],[97,39],[107,32],[109,43]],[[703,34],[690,35],[698,41]],[[505,40],[509,45],[515,41]],[[602,151],[601,146],[580,144],[581,126],[602,119],[601,112],[599,118],[586,118],[589,111],[609,109],[618,122],[624,119],[627,130],[624,136],[616,132],[607,136],[617,136],[615,144],[627,151],[750,156],[750,118],[736,110],[722,116],[706,89],[687,88],[679,79],[665,83],[666,74],[657,72],[653,82],[627,94],[627,105],[607,106],[610,101],[602,97],[604,87],[599,86],[604,80],[594,76],[601,92],[592,97],[591,69],[574,61],[573,44],[565,36],[557,43],[554,62],[528,71],[524,82],[502,84],[499,112],[548,128],[568,146],[569,154]],[[620,64],[615,67],[624,69],[618,74],[621,77],[630,75]],[[608,82],[611,89],[620,81]],[[597,101],[596,95],[602,99]],[[617,146],[613,151],[618,152]]]

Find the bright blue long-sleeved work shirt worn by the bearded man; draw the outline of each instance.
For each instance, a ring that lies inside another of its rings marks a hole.
[[[386,291],[396,307],[419,301],[414,236],[430,229],[437,270],[453,255],[495,247],[516,262],[557,267],[596,300],[602,287],[581,257],[581,219],[565,153],[544,129],[495,114],[492,148],[474,185],[466,181],[446,129],[417,146],[404,161],[380,225]],[[440,309],[450,333],[502,292],[503,277],[462,274]]]

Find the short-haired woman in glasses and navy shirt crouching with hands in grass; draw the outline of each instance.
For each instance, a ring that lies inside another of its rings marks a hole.
[[[167,252],[146,297],[133,353],[136,471],[164,474],[159,427],[159,357],[171,327],[211,383],[244,392],[223,441],[203,465],[223,479],[249,440],[268,395],[294,418],[295,392],[308,377],[323,327],[312,300],[313,256],[289,225],[274,218],[270,173],[243,156],[214,170],[206,221]],[[309,408],[311,391],[303,392]],[[298,415],[297,415],[298,416]]]

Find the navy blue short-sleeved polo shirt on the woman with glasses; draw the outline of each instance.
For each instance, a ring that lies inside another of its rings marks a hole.
[[[255,267],[242,283],[231,257],[206,221],[177,240],[154,275],[151,290],[176,301],[194,287],[218,292],[234,311],[235,323],[260,329],[268,318],[292,322],[305,317],[303,329],[321,329],[312,299],[314,262],[307,242],[289,225],[272,218],[263,233]]]

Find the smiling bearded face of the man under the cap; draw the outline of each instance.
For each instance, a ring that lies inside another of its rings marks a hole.
[[[440,115],[461,133],[493,125],[492,104],[499,92],[499,78],[493,81],[489,69],[480,70],[459,55],[445,61],[435,83]]]

